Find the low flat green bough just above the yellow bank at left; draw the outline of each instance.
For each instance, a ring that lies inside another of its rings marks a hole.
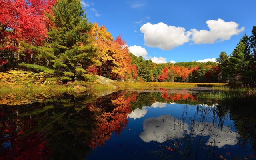
[[[20,63],[19,64],[20,67],[22,68],[26,68],[29,71],[32,72],[45,72],[45,73],[49,73],[49,74],[53,74],[55,70],[52,70],[50,68],[47,68],[45,66],[40,66],[37,64],[29,64],[29,63]]]

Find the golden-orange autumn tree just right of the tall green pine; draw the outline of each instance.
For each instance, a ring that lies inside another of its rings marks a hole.
[[[98,48],[94,64],[97,74],[113,79],[125,79],[131,74],[131,57],[128,46],[118,36],[116,40],[105,26],[95,23],[89,32],[92,44]]]

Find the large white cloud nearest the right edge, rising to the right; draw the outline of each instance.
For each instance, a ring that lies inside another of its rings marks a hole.
[[[195,44],[213,44],[217,40],[230,40],[231,36],[238,35],[244,31],[244,27],[238,28],[239,24],[236,22],[225,22],[218,18],[218,20],[206,21],[210,30],[196,30],[192,31],[192,40]]]

